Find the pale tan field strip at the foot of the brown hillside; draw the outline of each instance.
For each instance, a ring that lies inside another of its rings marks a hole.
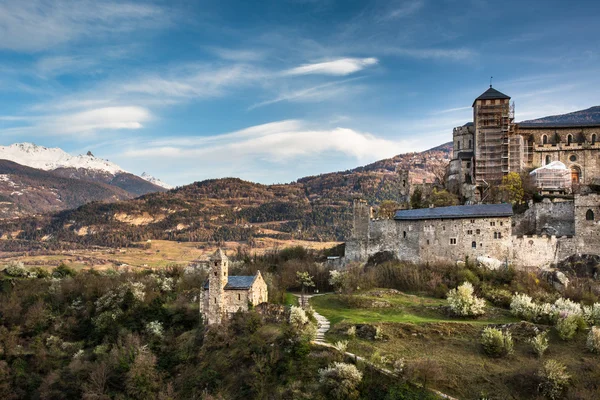
[[[93,247],[84,250],[61,250],[44,252],[11,253],[0,252],[0,265],[10,260],[22,261],[30,267],[51,268],[65,263],[75,269],[97,268],[106,269],[128,266],[133,269],[164,268],[168,265],[186,266],[189,263],[205,259],[217,248],[215,243],[206,242],[176,242],[168,240],[153,240],[150,248],[101,248]],[[253,248],[238,242],[225,242],[222,248],[227,254],[235,254],[241,247],[248,254],[263,254],[268,251],[292,246],[303,246],[310,249],[325,249],[336,246],[336,242],[308,242],[302,240],[276,240],[270,238],[258,239]]]

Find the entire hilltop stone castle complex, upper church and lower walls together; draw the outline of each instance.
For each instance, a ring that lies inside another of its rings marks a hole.
[[[473,102],[473,116],[472,123],[453,131],[446,182],[470,205],[401,207],[392,219],[373,219],[371,208],[357,199],[347,261],[389,252],[410,262],[492,259],[546,268],[572,255],[600,255],[600,194],[589,188],[600,177],[600,124],[514,123],[510,97],[491,86]],[[531,202],[522,214],[514,214],[510,204],[473,204],[484,202],[509,172],[557,161],[570,171],[569,187],[554,188],[562,196]],[[400,188],[405,203],[406,193],[405,181]]]

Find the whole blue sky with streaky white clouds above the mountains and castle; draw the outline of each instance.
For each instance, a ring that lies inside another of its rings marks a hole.
[[[600,104],[600,2],[0,0],[1,144],[183,185],[345,170]]]

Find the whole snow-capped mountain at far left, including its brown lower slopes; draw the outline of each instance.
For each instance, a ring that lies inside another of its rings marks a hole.
[[[91,152],[72,156],[59,148],[16,143],[0,146],[0,219],[118,201],[164,192],[169,185],[131,174]],[[0,202],[1,203],[1,202]]]

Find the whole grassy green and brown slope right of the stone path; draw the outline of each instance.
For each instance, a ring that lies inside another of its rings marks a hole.
[[[460,399],[530,399],[539,395],[537,370],[542,360],[527,340],[536,328],[548,330],[549,326],[519,322],[508,310],[490,306],[479,319],[452,318],[445,311],[444,300],[389,290],[313,297],[311,305],[332,323],[327,341],[349,340],[348,351],[376,363],[381,363],[383,356],[382,365],[387,368],[398,359],[404,359],[408,369],[426,365],[421,373],[429,380],[427,384],[444,393]],[[354,325],[360,331],[364,324],[379,326],[383,340],[347,335],[349,327]],[[490,358],[483,353],[480,336],[486,325],[511,331],[513,355]],[[600,357],[586,352],[586,333],[569,342],[562,341],[553,330],[549,334],[550,347],[544,359],[567,365],[572,375],[569,398],[593,399],[600,394],[596,388]]]

